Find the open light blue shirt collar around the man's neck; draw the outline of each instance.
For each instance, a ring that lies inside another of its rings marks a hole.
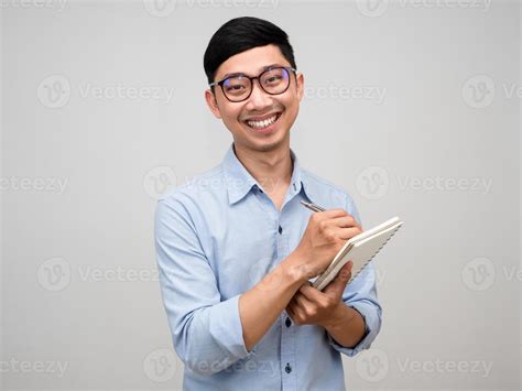
[[[302,189],[304,191],[308,200],[312,200],[309,197],[313,197],[311,192],[311,186],[306,183],[304,173],[300,167],[300,163],[297,156],[295,155],[292,149],[290,150],[290,155],[294,163],[294,169],[292,172],[292,178],[290,182],[290,192],[292,192],[291,196],[298,194]],[[242,163],[236,156],[233,152],[233,143],[230,144],[227,153],[225,154],[222,161],[222,167],[225,173],[225,182],[228,191],[228,202],[229,205],[232,205],[240,199],[242,199],[252,188],[252,186],[257,186],[259,189],[263,191],[263,187],[255,181],[255,178],[250,175],[250,173],[244,169]]]

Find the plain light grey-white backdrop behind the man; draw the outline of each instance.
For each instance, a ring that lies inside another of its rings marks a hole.
[[[301,164],[404,227],[349,389],[520,389],[520,4],[2,1],[2,389],[180,389],[157,195],[218,164],[203,54],[239,15],[285,30]]]

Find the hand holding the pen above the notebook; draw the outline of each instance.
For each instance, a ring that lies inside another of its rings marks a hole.
[[[295,249],[295,272],[303,281],[318,275],[328,268],[346,241],[360,232],[362,228],[344,209],[314,213]]]

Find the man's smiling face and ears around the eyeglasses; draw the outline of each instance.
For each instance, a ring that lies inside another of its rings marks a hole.
[[[254,47],[224,62],[215,80],[228,74],[258,76],[267,66],[291,66],[275,45]],[[222,119],[232,133],[236,148],[268,152],[290,146],[290,129],[297,117],[303,97],[303,75],[291,72],[290,86],[280,95],[270,95],[253,80],[252,94],[240,102],[229,101],[220,86],[205,91],[213,113]],[[273,122],[272,122],[273,121]]]

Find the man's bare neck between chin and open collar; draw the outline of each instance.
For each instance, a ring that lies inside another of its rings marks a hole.
[[[290,145],[272,151],[244,150],[233,143],[236,156],[268,194],[284,191],[292,178]]]

